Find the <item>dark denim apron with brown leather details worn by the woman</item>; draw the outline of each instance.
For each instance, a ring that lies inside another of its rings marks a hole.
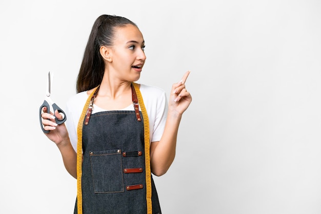
[[[139,111],[143,119],[137,121],[136,113],[98,112],[83,126],[84,214],[147,213],[144,118]],[[152,213],[161,213],[152,175],[150,177]],[[74,213],[77,213],[77,201]]]

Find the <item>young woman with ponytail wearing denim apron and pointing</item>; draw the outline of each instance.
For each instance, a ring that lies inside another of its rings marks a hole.
[[[67,103],[66,125],[42,114],[69,174],[77,179],[74,213],[161,213],[152,175],[175,157],[178,126],[192,101],[189,75],[164,90],[137,84],[146,56],[141,31],[129,19],[99,16]],[[49,120],[48,120],[49,119]],[[68,131],[67,131],[68,130]]]

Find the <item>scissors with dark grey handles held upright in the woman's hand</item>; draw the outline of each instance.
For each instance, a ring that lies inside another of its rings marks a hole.
[[[53,112],[55,112],[56,110],[58,111],[59,114],[61,114],[63,116],[63,119],[59,120],[57,117],[55,117],[55,122],[59,125],[59,124],[63,124],[66,120],[67,120],[67,117],[66,117],[66,114],[65,112],[59,108],[59,106],[54,103],[50,97],[51,95],[51,84],[52,84],[52,79],[53,79],[53,74],[51,75],[50,74],[50,71],[48,73],[48,82],[47,82],[47,93],[46,93],[46,97],[45,97],[45,100],[44,100],[44,103],[40,106],[40,109],[39,109],[39,120],[40,120],[40,126],[41,126],[41,129],[43,130],[44,133],[49,133],[50,131],[46,131],[44,129],[44,125],[42,123],[42,117],[41,117],[41,114],[44,113],[43,111],[43,108],[44,107],[47,107],[47,112],[50,113],[50,105],[52,106],[52,109],[53,109]],[[49,120],[49,119],[48,119]]]

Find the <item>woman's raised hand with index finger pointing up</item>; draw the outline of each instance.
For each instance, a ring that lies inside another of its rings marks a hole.
[[[182,80],[173,84],[168,102],[169,113],[176,112],[177,114],[182,115],[190,105],[192,96],[185,88],[185,82],[189,74],[190,71],[186,72]]]

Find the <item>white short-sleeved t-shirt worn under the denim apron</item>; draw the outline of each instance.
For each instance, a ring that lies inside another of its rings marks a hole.
[[[163,135],[165,122],[167,118],[168,104],[166,93],[163,89],[141,84],[139,88],[141,91],[145,108],[149,120],[149,142],[159,141]],[[77,126],[79,118],[84,109],[84,105],[88,99],[87,91],[75,94],[72,96],[66,105],[66,126],[69,133],[69,138],[72,147],[77,152]],[[104,112],[106,110],[99,108],[95,104],[93,105],[92,114],[97,112]],[[133,105],[131,104],[125,109],[120,111],[133,111]],[[141,105],[139,105],[139,111],[141,111]]]

